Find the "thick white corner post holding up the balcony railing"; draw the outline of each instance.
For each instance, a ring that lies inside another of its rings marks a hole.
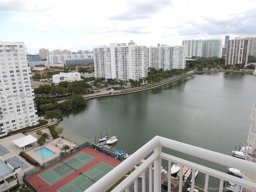
[[[159,155],[162,152],[162,146],[159,145],[154,149],[154,154]],[[154,191],[161,191],[161,158],[154,161]]]

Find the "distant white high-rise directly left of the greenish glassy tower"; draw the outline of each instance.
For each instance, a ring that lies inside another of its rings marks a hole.
[[[202,39],[182,40],[182,45],[186,46],[186,57],[202,57],[203,42]]]

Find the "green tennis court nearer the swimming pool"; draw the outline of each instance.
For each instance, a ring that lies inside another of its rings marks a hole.
[[[49,170],[40,173],[39,176],[52,185],[92,160],[94,160],[93,157],[80,152]]]

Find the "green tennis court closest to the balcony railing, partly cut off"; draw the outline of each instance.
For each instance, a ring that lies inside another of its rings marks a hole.
[[[100,162],[88,171],[80,174],[77,178],[58,189],[58,192],[83,192],[95,182],[100,180],[104,175],[110,172],[113,167]]]

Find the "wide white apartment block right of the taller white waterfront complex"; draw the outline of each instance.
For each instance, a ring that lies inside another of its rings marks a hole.
[[[184,69],[186,46],[167,46],[163,44],[157,47],[149,47],[149,66],[155,69],[172,70]]]

